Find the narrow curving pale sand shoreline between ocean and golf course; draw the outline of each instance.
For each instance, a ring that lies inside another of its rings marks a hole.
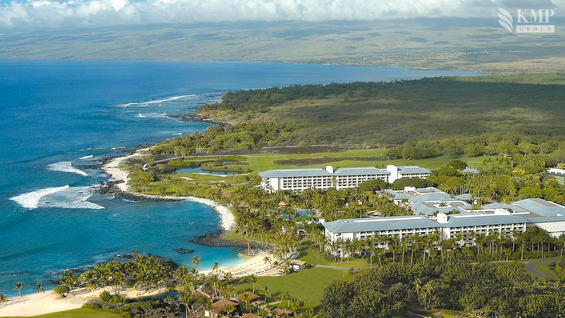
[[[108,175],[110,175],[111,181],[118,182],[112,184],[113,186],[118,187],[119,191],[117,194],[121,194],[124,196],[134,197],[138,199],[146,199],[146,200],[155,200],[155,201],[179,201],[179,200],[189,200],[201,204],[208,205],[212,207],[218,212],[220,216],[221,227],[224,231],[233,231],[236,227],[236,218],[233,216],[233,213],[229,210],[228,207],[225,205],[221,205],[216,201],[212,201],[209,199],[205,199],[202,197],[195,197],[195,196],[162,196],[162,195],[148,195],[148,194],[140,194],[137,192],[132,192],[128,190],[128,173],[127,171],[121,170],[118,168],[119,165],[123,165],[128,161],[134,160],[136,158],[140,158],[143,156],[141,151],[145,151],[149,148],[139,149],[135,153],[129,154],[128,156],[118,157],[112,159],[107,164],[102,165],[102,170],[104,170]]]

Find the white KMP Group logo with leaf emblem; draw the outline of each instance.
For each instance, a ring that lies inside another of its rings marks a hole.
[[[552,9],[516,9],[516,24],[510,12],[498,8],[498,23],[510,32],[555,33],[555,25],[549,25],[549,18],[555,15]]]

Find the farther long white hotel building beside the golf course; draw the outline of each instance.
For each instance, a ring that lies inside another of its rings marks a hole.
[[[348,167],[334,171],[332,166],[302,169],[271,169],[259,173],[259,186],[267,192],[291,190],[301,192],[307,188],[328,190],[328,188],[355,188],[359,183],[381,179],[393,183],[400,178],[425,178],[431,170],[419,166],[387,165],[386,169],[376,167]]]

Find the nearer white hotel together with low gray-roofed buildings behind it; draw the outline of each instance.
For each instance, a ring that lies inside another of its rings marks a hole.
[[[455,239],[457,246],[475,245],[477,235],[493,232],[511,238],[528,227],[539,227],[551,237],[565,234],[565,207],[543,199],[525,199],[510,204],[492,203],[473,209],[467,203],[470,195],[451,197],[437,188],[411,188],[404,191],[384,190],[392,195],[397,204],[405,204],[414,215],[398,217],[354,218],[324,222],[328,251],[345,257],[341,243],[346,240],[366,240],[362,252],[368,255],[370,246],[388,247],[393,237],[428,237],[435,241]]]

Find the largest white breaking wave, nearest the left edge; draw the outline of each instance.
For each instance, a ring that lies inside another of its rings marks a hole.
[[[69,187],[68,184],[62,187],[45,188],[27,194],[20,194],[11,197],[10,200],[16,201],[21,207],[37,209],[38,207],[57,207],[74,209],[103,209],[89,201],[92,196],[93,187]]]

